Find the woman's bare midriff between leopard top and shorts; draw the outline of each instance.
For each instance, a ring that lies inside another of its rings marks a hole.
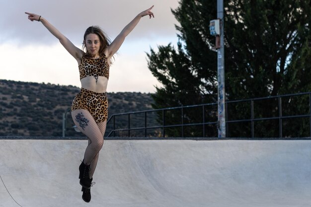
[[[107,90],[108,79],[104,76],[86,76],[80,79],[80,82],[82,88],[96,93],[105,93]]]

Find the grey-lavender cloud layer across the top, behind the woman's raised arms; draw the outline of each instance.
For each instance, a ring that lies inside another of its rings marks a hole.
[[[144,17],[130,38],[173,36],[177,23],[170,9],[177,0],[0,0],[0,40],[21,44],[47,44],[55,38],[36,21],[29,21],[25,11],[45,17],[75,44],[82,41],[85,29],[99,25],[114,38],[139,12],[155,5],[155,17]]]

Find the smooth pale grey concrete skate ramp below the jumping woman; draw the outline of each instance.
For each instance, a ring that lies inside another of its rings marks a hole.
[[[311,206],[311,140],[106,140],[89,204],[86,145],[0,140],[0,207]]]

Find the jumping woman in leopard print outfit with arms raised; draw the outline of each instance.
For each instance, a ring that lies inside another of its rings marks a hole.
[[[135,28],[141,17],[154,17],[151,9],[139,13],[110,44],[109,39],[97,26],[86,29],[82,50],[77,48],[67,37],[60,33],[44,17],[25,12],[31,21],[40,21],[65,49],[77,60],[80,73],[81,91],[72,104],[72,118],[78,129],[88,138],[84,159],[79,166],[79,179],[82,186],[82,199],[90,202],[90,187],[96,168],[99,151],[102,148],[108,116],[106,88],[109,67],[113,55],[122,45],[125,37]],[[84,52],[85,50],[85,52]]]

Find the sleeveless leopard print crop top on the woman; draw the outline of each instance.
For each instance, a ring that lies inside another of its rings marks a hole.
[[[86,54],[83,54],[79,65],[80,79],[87,76],[104,76],[109,79],[109,64],[105,54],[99,56],[98,59],[92,59]]]

